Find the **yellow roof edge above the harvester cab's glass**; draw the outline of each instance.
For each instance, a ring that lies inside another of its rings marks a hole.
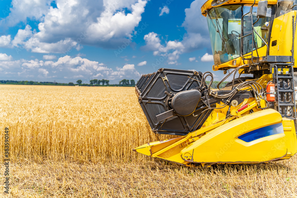
[[[258,4],[260,0],[256,0]],[[217,4],[219,2],[219,4]],[[211,9],[212,7],[218,7],[221,5],[230,5],[230,4],[253,4],[254,0],[208,0],[201,7],[201,13],[206,16],[206,10]],[[268,0],[268,4],[277,4],[277,0]]]

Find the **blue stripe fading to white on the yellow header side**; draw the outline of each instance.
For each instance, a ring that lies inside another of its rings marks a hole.
[[[284,128],[282,123],[273,124],[270,126],[265,126],[260,129],[256,129],[245,133],[238,137],[238,139],[243,140],[245,142],[252,142],[254,140],[260,139],[262,137],[267,137],[270,135],[281,134],[284,133]]]

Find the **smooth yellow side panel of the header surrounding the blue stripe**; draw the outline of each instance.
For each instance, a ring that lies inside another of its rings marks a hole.
[[[291,127],[294,131],[285,131],[284,134],[272,135],[248,143],[237,138],[246,132],[281,122],[281,115],[273,109],[245,115],[208,132],[183,149],[181,156],[191,153],[191,162],[225,163],[269,161],[284,157],[287,150],[295,154],[297,142],[293,123],[287,124],[293,125]]]

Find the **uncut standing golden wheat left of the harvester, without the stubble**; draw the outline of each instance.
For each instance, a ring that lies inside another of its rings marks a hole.
[[[10,130],[11,158],[143,159],[131,150],[156,137],[133,91],[131,87],[0,86],[0,130]]]

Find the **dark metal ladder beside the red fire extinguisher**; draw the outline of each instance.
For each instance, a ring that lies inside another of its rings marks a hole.
[[[274,64],[276,110],[283,118],[296,120],[294,70],[292,64]]]

